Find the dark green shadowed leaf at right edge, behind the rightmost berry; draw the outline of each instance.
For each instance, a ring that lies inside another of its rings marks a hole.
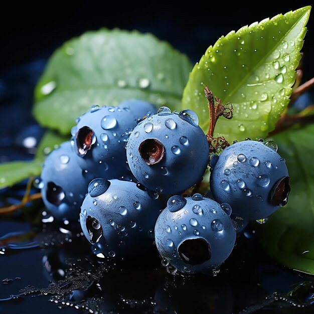
[[[279,263],[314,274],[314,124],[290,129],[273,139],[286,160],[291,180],[288,204],[260,228],[266,252]]]

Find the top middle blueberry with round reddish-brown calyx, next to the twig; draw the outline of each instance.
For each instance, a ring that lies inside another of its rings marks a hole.
[[[126,144],[127,161],[147,189],[179,194],[202,178],[209,146],[197,121],[191,110],[179,114],[162,107],[133,129]]]

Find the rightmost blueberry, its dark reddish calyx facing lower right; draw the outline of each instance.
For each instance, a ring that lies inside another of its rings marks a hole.
[[[263,142],[232,144],[211,167],[214,198],[229,203],[237,216],[263,219],[287,202],[290,187],[285,160]]]

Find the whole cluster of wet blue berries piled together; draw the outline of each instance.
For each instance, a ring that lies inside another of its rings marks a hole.
[[[286,204],[285,161],[263,140],[213,154],[193,111],[153,112],[129,100],[93,106],[78,118],[71,140],[44,164],[44,203],[61,220],[80,217],[93,249],[109,258],[139,256],[154,240],[163,265],[215,274],[236,232]],[[187,196],[208,166],[211,195]]]

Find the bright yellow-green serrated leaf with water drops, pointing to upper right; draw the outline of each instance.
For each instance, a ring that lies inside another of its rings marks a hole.
[[[230,32],[210,46],[190,74],[182,108],[191,108],[207,132],[208,85],[222,103],[231,102],[233,118],[220,118],[215,136],[230,142],[266,137],[289,102],[310,7]]]

